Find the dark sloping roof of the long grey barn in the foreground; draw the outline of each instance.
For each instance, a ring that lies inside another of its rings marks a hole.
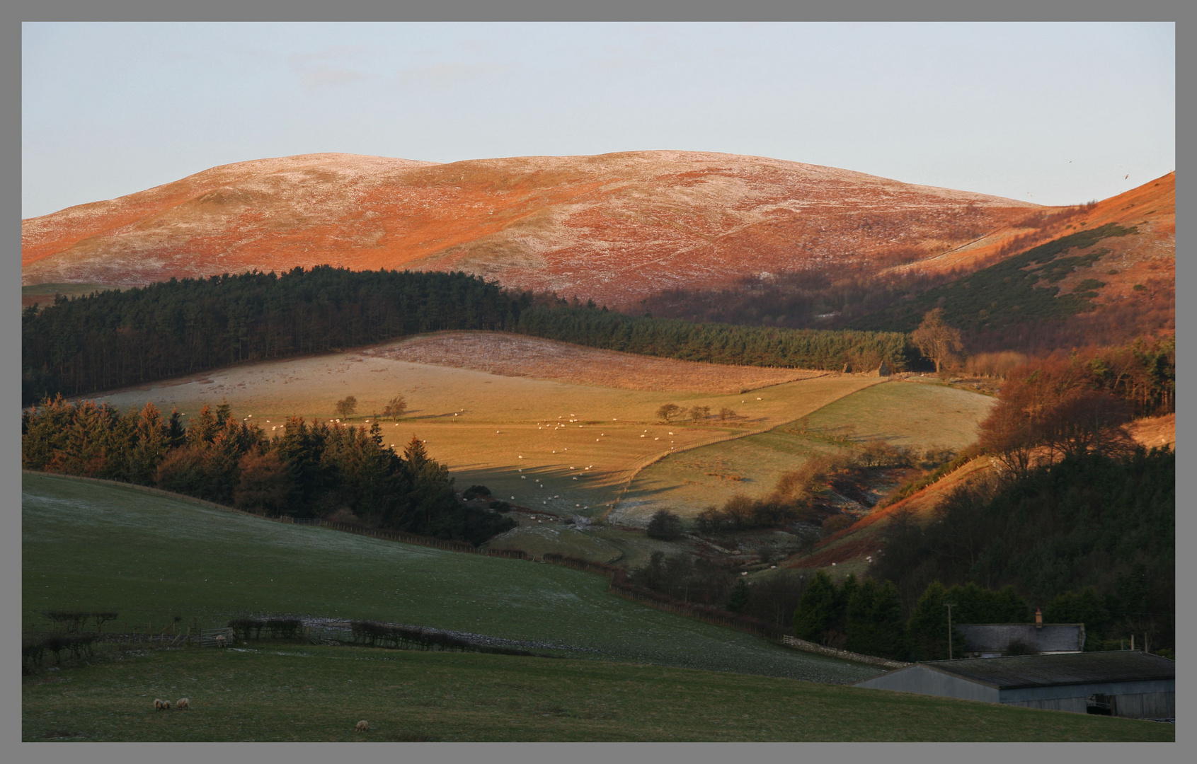
[[[1138,650],[935,660],[922,665],[999,690],[1177,678],[1174,661]]]

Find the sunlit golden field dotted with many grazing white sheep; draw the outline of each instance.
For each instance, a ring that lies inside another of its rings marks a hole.
[[[751,395],[667,392],[500,377],[348,353],[237,366],[104,399],[121,409],[152,401],[188,415],[203,403],[225,399],[236,416],[253,415],[271,432],[290,414],[334,416],[334,404],[347,395],[357,397],[363,415],[354,422],[363,422],[400,393],[409,402],[408,416],[397,426],[383,426],[385,442],[401,448],[413,435],[425,440],[429,453],[449,465],[461,488],[481,483],[527,507],[597,515],[640,467],[672,450],[767,430],[879,381],[826,375]],[[716,412],[728,407],[740,418],[663,426],[656,411],[666,403],[709,405]]]

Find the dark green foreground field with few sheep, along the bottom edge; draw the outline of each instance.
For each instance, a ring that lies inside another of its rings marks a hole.
[[[184,696],[192,710],[152,708]],[[661,666],[255,643],[25,677],[22,738],[1171,741],[1175,727]]]

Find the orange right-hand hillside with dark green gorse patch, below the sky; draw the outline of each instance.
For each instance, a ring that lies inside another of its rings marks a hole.
[[[1113,343],[1172,331],[1175,230],[1172,172],[1011,239],[1005,251],[973,257],[974,267],[992,264],[850,325],[909,331],[940,306],[977,348]],[[930,270],[940,259],[918,265]]]

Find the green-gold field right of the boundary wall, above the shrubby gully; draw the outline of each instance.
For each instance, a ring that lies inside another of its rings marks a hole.
[[[670,454],[632,481],[612,513],[621,522],[644,522],[658,509],[693,517],[735,494],[761,496],[780,473],[844,442],[880,439],[918,451],[961,450],[977,438],[977,423],[994,398],[944,385],[891,381],[827,403],[806,417],[768,432]],[[803,430],[803,427],[806,428]]]

